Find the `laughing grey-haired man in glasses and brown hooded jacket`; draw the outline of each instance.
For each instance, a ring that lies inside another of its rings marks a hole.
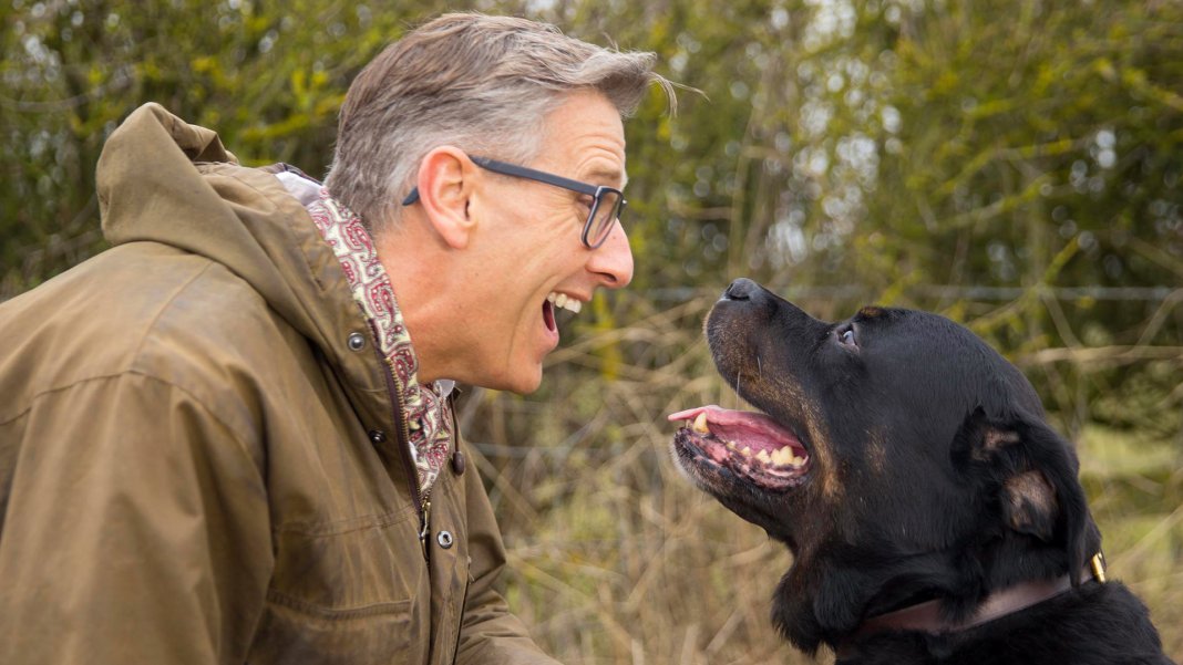
[[[652,64],[441,17],[355,80],[323,189],[132,113],[114,248],[0,306],[0,661],[552,663],[451,380],[536,389],[555,307],[628,283]]]

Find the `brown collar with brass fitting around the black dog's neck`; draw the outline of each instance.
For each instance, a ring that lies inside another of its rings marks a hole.
[[[1081,571],[1080,581],[1092,578],[1105,582],[1105,556],[1098,552]],[[927,600],[864,621],[843,640],[838,643],[838,657],[846,658],[854,652],[854,641],[867,635],[887,631],[919,631],[931,634],[948,634],[965,631],[1008,614],[1014,614],[1045,600],[1051,600],[1073,587],[1067,574],[1053,580],[1026,581],[993,592],[974,613],[962,621],[949,621],[940,614],[940,599]]]

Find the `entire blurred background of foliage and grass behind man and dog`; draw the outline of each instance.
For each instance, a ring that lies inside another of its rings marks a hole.
[[[737,276],[822,318],[937,311],[1022,367],[1183,660],[1183,4],[0,1],[0,299],[103,249],[95,163],[137,105],[322,176],[351,77],[442,11],[702,91],[627,124],[634,285],[562,321],[537,393],[461,403],[511,604],[564,661],[832,660],[770,627],[788,554],[668,458],[665,413],[737,405],[699,333]]]

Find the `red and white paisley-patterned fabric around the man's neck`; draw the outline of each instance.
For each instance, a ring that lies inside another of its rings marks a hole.
[[[308,211],[341,261],[362,314],[377,331],[379,351],[394,374],[411,431],[411,458],[418,470],[420,491],[426,496],[452,451],[447,390],[440,385],[444,382],[426,386],[419,383],[419,359],[411,345],[411,333],[361,217],[332,198],[327,188],[321,188],[319,200],[309,204]]]

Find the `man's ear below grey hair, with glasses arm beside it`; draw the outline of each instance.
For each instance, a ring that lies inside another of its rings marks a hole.
[[[459,148],[441,145],[419,163],[419,203],[427,222],[453,249],[467,247],[476,229],[468,204],[478,167]]]

